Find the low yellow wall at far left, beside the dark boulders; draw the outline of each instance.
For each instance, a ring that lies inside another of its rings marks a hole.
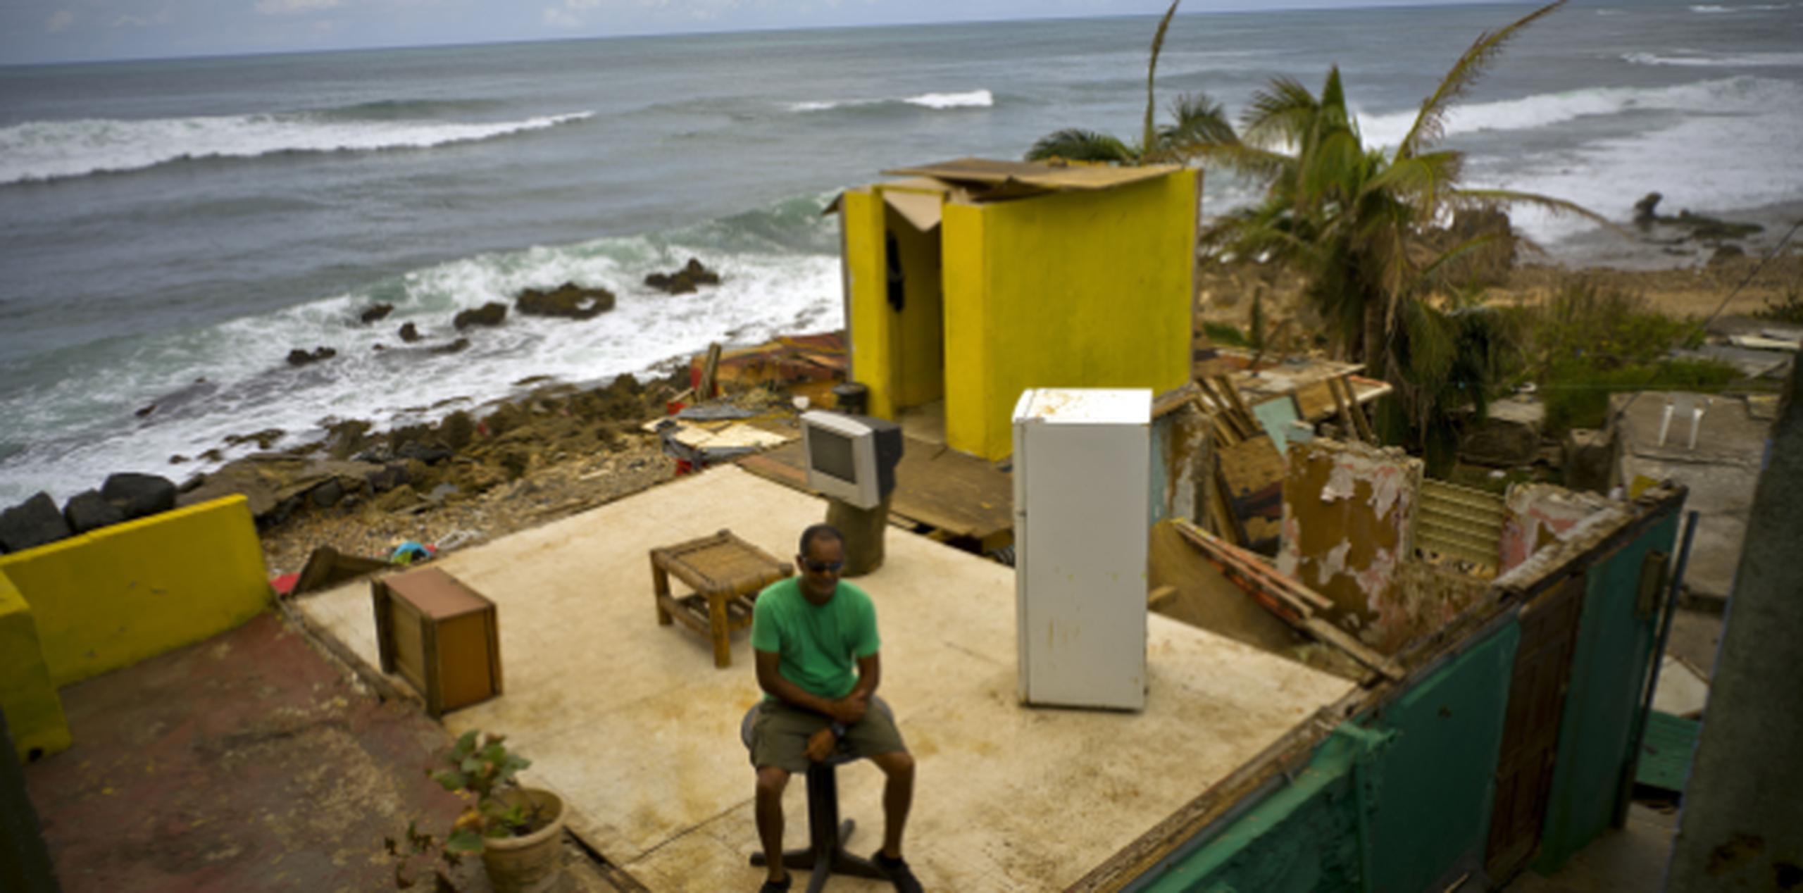
[[[269,604],[243,496],[0,557],[58,687],[231,630]]]

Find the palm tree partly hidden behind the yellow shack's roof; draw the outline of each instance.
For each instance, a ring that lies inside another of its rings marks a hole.
[[[1194,146],[1217,144],[1233,139],[1233,123],[1219,103],[1206,94],[1185,94],[1170,105],[1172,123],[1156,126],[1158,101],[1154,94],[1154,76],[1158,74],[1158,54],[1165,49],[1165,32],[1170,29],[1177,4],[1172,0],[1165,18],[1158,22],[1152,34],[1152,60],[1145,70],[1145,126],[1136,143],[1102,133],[1098,130],[1066,128],[1046,133],[1026,152],[1026,161],[1089,161],[1111,164],[1159,164],[1183,162]]]

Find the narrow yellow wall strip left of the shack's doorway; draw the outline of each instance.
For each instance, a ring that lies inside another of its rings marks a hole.
[[[883,198],[874,189],[846,189],[838,220],[846,236],[844,258],[851,350],[851,379],[871,391],[871,415],[896,415],[896,314],[889,308],[883,267]]]

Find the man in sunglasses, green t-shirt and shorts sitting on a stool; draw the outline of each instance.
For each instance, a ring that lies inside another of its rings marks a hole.
[[[914,758],[894,718],[869,709],[882,678],[876,606],[856,585],[840,583],[846,538],[831,525],[801,534],[799,577],[772,583],[752,612],[752,649],[764,704],[752,723],[752,765],[757,767],[757,837],[770,879],[763,893],[790,888],[783,868],[783,788],[810,761],[840,745],[869,758],[887,776],[883,848],[871,859],[896,889],[918,891],[920,880],[902,859],[902,828],[914,799]],[[851,667],[856,662],[856,675]]]

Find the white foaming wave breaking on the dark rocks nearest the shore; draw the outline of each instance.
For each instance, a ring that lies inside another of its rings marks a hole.
[[[225,437],[265,428],[283,449],[317,440],[332,419],[368,419],[377,429],[422,422],[516,395],[526,377],[590,384],[656,372],[710,341],[755,345],[777,334],[844,325],[837,218],[831,198],[793,195],[703,224],[564,245],[483,253],[386,276],[283,310],[164,332],[115,345],[63,348],[9,375],[56,384],[0,391],[0,419],[31,431],[29,444],[0,437],[0,505],[34,491],[63,500],[106,474],[139,469],[182,478],[258,449]],[[649,272],[700,258],[718,287],[664,294]],[[508,314],[496,328],[458,332],[458,310],[512,305],[521,289],[564,281],[617,294],[613,310],[584,321]],[[375,325],[357,314],[389,303]],[[413,323],[424,341],[404,345]],[[469,337],[454,354],[433,348]],[[382,345],[380,348],[377,345]],[[292,348],[330,346],[337,355],[290,368]],[[155,404],[142,419],[135,410]],[[171,462],[220,449],[220,458]]]

